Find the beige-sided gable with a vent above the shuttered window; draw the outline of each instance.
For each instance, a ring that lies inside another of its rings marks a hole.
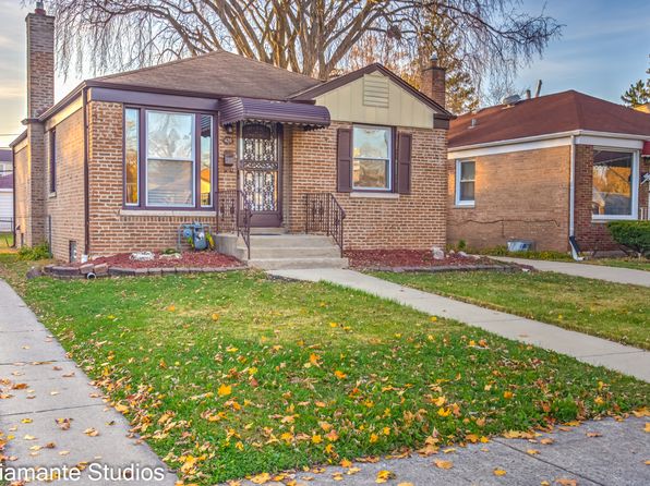
[[[381,71],[320,94],[332,121],[433,129],[434,111]]]

